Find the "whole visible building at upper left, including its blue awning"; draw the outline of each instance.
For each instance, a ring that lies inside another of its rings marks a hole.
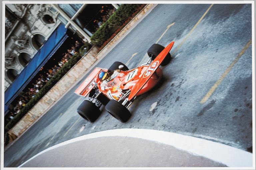
[[[41,73],[47,67],[56,64],[74,45],[73,41],[90,42],[90,37],[118,7],[117,4],[6,4],[5,115],[9,116],[15,108],[19,111],[22,108],[19,100],[38,75],[43,76]]]

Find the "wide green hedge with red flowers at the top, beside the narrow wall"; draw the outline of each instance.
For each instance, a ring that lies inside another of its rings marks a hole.
[[[102,46],[129,18],[135,16],[146,4],[123,4],[93,34],[91,44]]]

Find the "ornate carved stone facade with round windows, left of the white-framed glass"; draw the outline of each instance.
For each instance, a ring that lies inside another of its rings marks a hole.
[[[5,90],[58,26],[49,4],[6,4]]]

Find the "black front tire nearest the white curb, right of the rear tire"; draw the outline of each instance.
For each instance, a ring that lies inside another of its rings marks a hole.
[[[105,109],[120,122],[127,122],[131,117],[130,111],[116,100],[110,100]]]

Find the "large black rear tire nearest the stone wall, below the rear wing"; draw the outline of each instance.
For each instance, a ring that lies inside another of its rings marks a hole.
[[[95,122],[100,116],[100,109],[91,101],[85,100],[77,108],[77,113],[89,122]]]

